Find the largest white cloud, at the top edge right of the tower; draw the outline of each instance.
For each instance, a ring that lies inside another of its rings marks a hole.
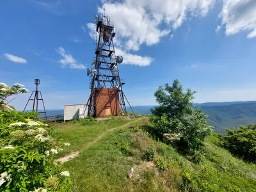
[[[204,16],[215,0],[124,0],[122,3],[106,1],[99,13],[109,15],[115,23],[117,38],[122,48],[138,51],[141,44],[158,44],[171,29],[179,28],[191,13]]]

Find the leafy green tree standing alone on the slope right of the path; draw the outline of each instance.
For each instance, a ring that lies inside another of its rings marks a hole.
[[[159,106],[151,110],[150,118],[159,133],[180,134],[181,143],[191,152],[200,150],[212,131],[202,109],[193,109],[195,93],[190,89],[184,92],[178,79],[172,86],[168,83],[159,86],[154,94]]]

